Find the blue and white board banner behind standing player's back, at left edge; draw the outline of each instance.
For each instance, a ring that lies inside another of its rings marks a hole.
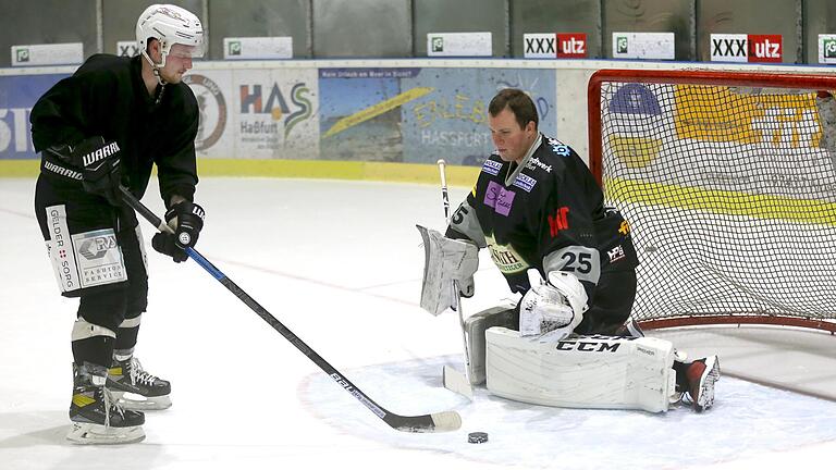
[[[39,158],[32,145],[29,113],[38,98],[66,76],[0,76],[0,159]]]

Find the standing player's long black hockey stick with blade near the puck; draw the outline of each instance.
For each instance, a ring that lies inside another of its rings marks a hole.
[[[131,191],[124,186],[120,186],[122,191],[122,200],[131,206],[135,211],[139,212],[145,220],[156,226],[157,230],[163,233],[174,233],[174,231],[160,218],[155,215],[145,205],[138,201]],[[247,305],[253,311],[255,311],[263,321],[266,321],[275,331],[282,334],[288,342],[291,342],[298,350],[308,357],[314,363],[319,366],[331,379],[334,380],[346,392],[357,398],[362,405],[366,406],[371,412],[382,419],[386,424],[398,431],[405,432],[440,432],[440,431],[455,431],[462,426],[462,417],[456,411],[442,411],[431,415],[420,416],[401,416],[395,415],[385,408],[381,407],[374,400],[366,396],[359,388],[357,388],[348,379],[345,378],[340,371],[334,369],[333,366],[322,359],[314,349],[305,344],[298,336],[287,329],[282,322],[275,319],[270,312],[261,307],[256,300],[253,299],[247,293],[232,282],[225,274],[223,274],[218,268],[202,257],[194,248],[186,248],[186,253],[189,258],[200,264],[200,268],[205,269],[216,280],[218,280],[224,287],[235,295],[241,301]]]

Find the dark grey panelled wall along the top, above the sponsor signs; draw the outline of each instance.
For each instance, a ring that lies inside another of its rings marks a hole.
[[[586,33],[591,59],[614,32],[673,32],[676,60],[705,61],[714,33],[780,34],[785,63],[816,63],[836,33],[834,0],[162,0],[205,23],[208,59],[224,37],[292,36],[294,57],[421,58],[427,33],[491,32],[493,57],[521,58],[525,33]],[[148,0],[0,0],[0,66],[14,45],[82,42],[85,55],[133,40]]]

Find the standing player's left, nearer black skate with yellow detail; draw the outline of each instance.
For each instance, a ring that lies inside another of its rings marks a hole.
[[[106,387],[101,366],[73,364],[73,400],[66,438],[74,444],[130,444],[145,438],[145,415],[122,408]]]

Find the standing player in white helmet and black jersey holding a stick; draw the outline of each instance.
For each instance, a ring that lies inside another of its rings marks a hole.
[[[144,242],[120,185],[137,199],[157,166],[165,219],[175,234],[153,248],[187,259],[204,225],[194,202],[198,107],[182,83],[201,57],[204,30],[175,5],[146,9],[134,58],[90,57],[32,110],[41,154],[35,213],[61,293],[79,299],[72,331],[73,396],[67,438],[81,444],[137,442],[144,409],[171,405],[168,381],[134,357],[148,297]]]

